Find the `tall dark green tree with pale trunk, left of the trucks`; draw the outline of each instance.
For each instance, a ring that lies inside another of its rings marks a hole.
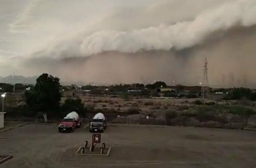
[[[26,103],[30,110],[42,112],[47,122],[47,113],[58,111],[61,100],[59,90],[60,79],[43,73],[36,79],[36,85],[31,91],[26,91]]]

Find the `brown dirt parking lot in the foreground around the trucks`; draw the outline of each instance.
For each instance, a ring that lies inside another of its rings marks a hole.
[[[0,168],[246,167],[256,165],[256,132],[213,128],[110,125],[102,140],[109,157],[77,156],[92,133],[58,133],[57,125],[29,124],[0,133]]]

